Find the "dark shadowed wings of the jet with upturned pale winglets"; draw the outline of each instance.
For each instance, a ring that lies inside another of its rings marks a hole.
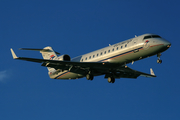
[[[58,61],[58,60],[49,60],[49,59],[17,57],[12,49],[11,49],[11,53],[14,59],[42,63],[42,66],[45,66],[45,67],[69,70],[70,72],[74,72],[77,74],[86,74],[87,71],[92,70],[95,76],[103,75],[103,74],[108,75],[110,72],[113,72],[115,78],[137,78],[138,76],[156,77],[152,69],[150,69],[151,74],[147,74],[147,73],[133,70],[119,63],[73,62],[73,61]],[[108,76],[105,76],[105,78],[107,77]]]

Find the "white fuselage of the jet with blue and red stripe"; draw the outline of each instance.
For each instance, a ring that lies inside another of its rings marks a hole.
[[[171,43],[155,34],[144,34],[138,37],[119,42],[114,45],[78,56],[74,62],[110,62],[128,64],[143,58],[162,53],[171,46]],[[53,79],[77,79],[85,77],[68,70],[50,75]]]

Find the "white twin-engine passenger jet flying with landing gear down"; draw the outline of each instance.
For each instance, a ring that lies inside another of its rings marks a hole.
[[[133,70],[127,66],[137,60],[157,55],[157,63],[162,63],[161,53],[171,47],[171,43],[156,34],[143,34],[134,38],[110,45],[108,47],[72,58],[54,51],[47,46],[43,49],[21,48],[21,50],[40,51],[43,59],[17,57],[11,48],[13,59],[42,63],[48,69],[52,79],[78,79],[105,75],[109,83],[115,78],[156,77],[152,68],[150,74]],[[59,56],[60,55],[60,56]]]

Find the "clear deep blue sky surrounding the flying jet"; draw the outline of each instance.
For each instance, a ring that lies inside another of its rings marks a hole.
[[[179,120],[179,0],[0,0],[0,120]],[[42,58],[19,48],[52,46],[72,58],[155,33],[172,43],[128,66],[156,78],[53,80]]]

